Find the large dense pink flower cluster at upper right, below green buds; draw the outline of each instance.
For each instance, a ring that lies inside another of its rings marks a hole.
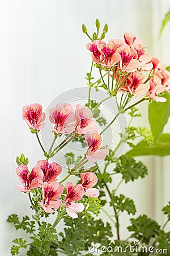
[[[111,72],[109,75],[116,80],[113,92],[107,88],[109,93],[128,92],[132,96],[146,96],[163,102],[165,98],[158,97],[158,94],[170,93],[170,75],[164,64],[145,53],[145,48],[142,40],[129,32],[124,34],[124,40],[111,39],[108,44],[103,40],[87,43],[96,67]],[[143,71],[150,71],[146,80]]]

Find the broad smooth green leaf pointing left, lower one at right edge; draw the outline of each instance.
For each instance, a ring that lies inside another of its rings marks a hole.
[[[146,141],[139,142],[132,150],[126,153],[127,156],[139,155],[159,155],[165,156],[170,154],[170,134],[160,135],[154,145],[148,145]]]

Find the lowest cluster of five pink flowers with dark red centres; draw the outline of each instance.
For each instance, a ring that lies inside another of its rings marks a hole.
[[[19,191],[31,192],[32,189],[42,188],[42,199],[39,204],[46,213],[53,213],[61,205],[66,208],[67,214],[73,218],[78,215],[74,212],[82,212],[84,205],[82,203],[73,203],[79,201],[84,195],[98,197],[99,190],[93,188],[97,183],[97,176],[92,172],[80,174],[80,184],[74,185],[71,182],[66,183],[66,196],[60,200],[63,193],[63,186],[57,182],[57,177],[61,174],[62,168],[57,163],[48,163],[47,160],[40,160],[31,172],[28,167],[21,164],[16,168],[16,174],[22,185],[16,185]]]

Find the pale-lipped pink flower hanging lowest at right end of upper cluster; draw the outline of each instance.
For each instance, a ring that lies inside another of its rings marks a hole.
[[[161,84],[161,80],[158,76],[153,76],[150,79],[150,89],[148,90],[148,98],[152,98],[156,102],[165,102],[166,99],[159,97],[160,93],[163,93],[165,87]]]

